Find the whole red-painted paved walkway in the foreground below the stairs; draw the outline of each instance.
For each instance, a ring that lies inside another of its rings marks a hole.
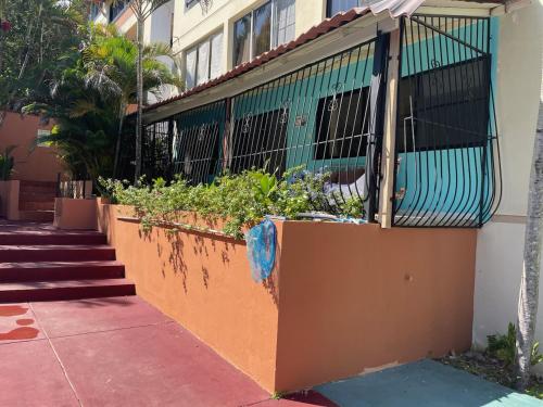
[[[333,406],[270,399],[136,296],[0,304],[0,406]]]

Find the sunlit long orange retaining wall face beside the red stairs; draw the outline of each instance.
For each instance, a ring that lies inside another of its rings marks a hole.
[[[172,234],[164,228],[146,234],[138,222],[116,219],[118,209],[130,214],[98,205],[99,228],[115,246],[138,295],[273,391],[276,293],[273,284],[251,279],[244,243],[200,232]]]

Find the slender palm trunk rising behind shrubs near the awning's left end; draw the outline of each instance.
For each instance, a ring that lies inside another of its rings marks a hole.
[[[113,4],[118,2],[126,2],[127,0],[113,0]],[[136,43],[138,46],[138,60],[137,60],[137,116],[136,116],[136,170],[135,182],[139,182],[141,175],[141,144],[142,144],[142,116],[143,116],[143,25],[146,20],[153,14],[160,7],[166,4],[169,0],[128,0],[128,7],[136,16]]]

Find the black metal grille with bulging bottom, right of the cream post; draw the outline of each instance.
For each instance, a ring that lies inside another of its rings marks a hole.
[[[402,21],[395,226],[480,227],[500,202],[490,20]]]

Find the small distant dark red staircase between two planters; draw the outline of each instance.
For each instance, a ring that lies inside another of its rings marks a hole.
[[[56,182],[21,181],[18,211],[21,220],[52,222]]]

